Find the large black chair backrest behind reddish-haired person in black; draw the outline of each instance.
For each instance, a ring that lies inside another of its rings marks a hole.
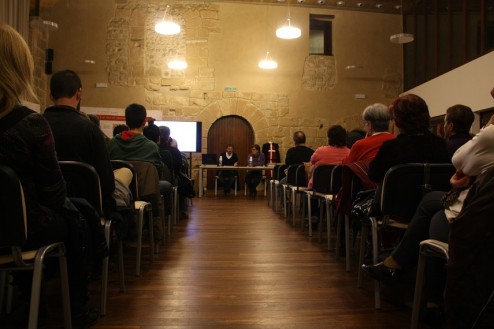
[[[407,163],[394,166],[384,176],[381,189],[381,213],[409,221],[422,196],[432,190],[451,189],[452,164]]]

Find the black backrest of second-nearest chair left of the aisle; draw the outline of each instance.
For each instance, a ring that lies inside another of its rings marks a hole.
[[[67,183],[67,196],[86,199],[101,216],[103,214],[101,185],[93,166],[79,161],[59,161]]]

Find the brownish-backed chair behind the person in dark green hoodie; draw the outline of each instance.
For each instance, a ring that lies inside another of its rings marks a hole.
[[[112,160],[114,161],[114,160]],[[134,208],[137,211],[137,254],[136,254],[136,276],[141,275],[142,237],[144,231],[144,218],[147,217],[151,263],[154,263],[155,237],[154,218],[161,217],[164,204],[159,190],[158,170],[151,162],[146,161],[121,161],[121,165],[133,168],[135,182],[131,184],[134,196]],[[163,218],[160,218],[163,223]],[[168,223],[170,227],[170,222]],[[163,233],[163,225],[161,225]]]

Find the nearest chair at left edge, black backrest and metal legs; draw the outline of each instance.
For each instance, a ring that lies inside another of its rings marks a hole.
[[[10,253],[0,256],[0,272],[5,278],[12,271],[33,271],[31,301],[29,307],[29,329],[38,327],[38,311],[41,279],[45,258],[58,258],[63,302],[65,328],[72,328],[69,299],[69,283],[65,245],[52,243],[37,250],[21,251],[27,238],[26,204],[22,185],[15,172],[8,166],[0,165],[0,246],[10,247]],[[5,281],[5,280],[2,280]],[[0,286],[4,292],[5,285]]]

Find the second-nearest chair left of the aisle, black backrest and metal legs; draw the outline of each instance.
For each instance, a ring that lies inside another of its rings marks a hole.
[[[67,183],[67,195],[86,199],[100,216],[104,227],[105,240],[110,246],[111,220],[105,218],[102,207],[101,186],[98,173],[93,166],[79,161],[59,161],[60,169]],[[120,257],[120,256],[119,256]],[[106,300],[108,293],[108,265],[109,257],[103,260],[101,273],[101,315],[106,314]],[[123,263],[119,260],[120,290],[125,290]]]

